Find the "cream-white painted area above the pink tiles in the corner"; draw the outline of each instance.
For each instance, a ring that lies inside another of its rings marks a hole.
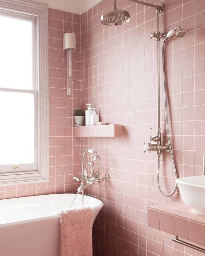
[[[50,8],[62,11],[83,14],[102,0],[36,0],[37,2],[48,3]]]

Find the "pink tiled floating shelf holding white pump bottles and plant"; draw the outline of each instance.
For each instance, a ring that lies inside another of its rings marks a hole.
[[[73,137],[122,137],[122,124],[73,127]]]

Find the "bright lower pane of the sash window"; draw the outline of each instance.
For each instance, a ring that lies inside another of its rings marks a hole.
[[[34,163],[34,95],[0,91],[0,165]]]

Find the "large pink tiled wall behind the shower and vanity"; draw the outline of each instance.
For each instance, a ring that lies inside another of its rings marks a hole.
[[[156,0],[147,0],[158,3]],[[205,1],[165,0],[161,31],[180,25],[184,38],[166,44],[169,126],[180,177],[201,174],[205,151]],[[94,226],[94,255],[199,256],[202,253],[172,242],[172,235],[148,227],[146,207],[179,201],[179,193],[165,198],[156,185],[155,153],[143,153],[149,128],[156,129],[156,30],[154,9],[117,1],[131,14],[131,22],[107,27],[100,23],[112,0],[103,0],[82,15],[82,107],[92,103],[100,121],[124,125],[121,138],[81,138],[82,151],[98,150],[100,175],[110,181],[90,187],[90,195],[104,202]],[[160,72],[162,76],[162,72]],[[162,77],[161,77],[162,81]],[[162,84],[161,84],[162,88]],[[161,128],[166,135],[161,89]],[[154,123],[154,124],[153,124]],[[166,136],[163,139],[167,142]],[[99,164],[99,167],[98,167]],[[174,186],[169,153],[164,153],[160,184],[166,193]]]

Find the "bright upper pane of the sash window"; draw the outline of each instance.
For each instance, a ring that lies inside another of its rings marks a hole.
[[[32,89],[32,22],[0,16],[0,87]]]

